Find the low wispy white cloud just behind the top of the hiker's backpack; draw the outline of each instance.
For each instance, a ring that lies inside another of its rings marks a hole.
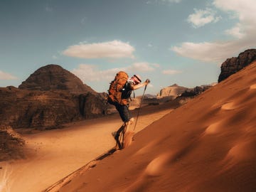
[[[150,72],[157,68],[156,63],[133,63],[125,68],[112,68],[108,70],[99,70],[95,65],[81,64],[78,68],[73,69],[71,72],[78,76],[83,82],[93,82],[107,80],[110,81],[114,78],[115,73],[120,70],[130,73],[130,75],[137,73]]]

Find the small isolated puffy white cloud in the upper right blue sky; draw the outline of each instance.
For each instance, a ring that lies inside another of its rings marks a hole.
[[[216,23],[220,20],[220,16],[215,16],[215,11],[212,9],[194,9],[195,14],[188,16],[188,23],[192,23],[194,28],[206,25],[207,23]]]

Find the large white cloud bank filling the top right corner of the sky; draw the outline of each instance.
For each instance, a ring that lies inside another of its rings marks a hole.
[[[224,31],[234,39],[201,43],[184,42],[181,46],[172,47],[171,50],[184,57],[219,64],[247,48],[256,47],[255,0],[215,0],[213,5],[228,14],[235,13],[238,17],[239,22],[233,28]]]

